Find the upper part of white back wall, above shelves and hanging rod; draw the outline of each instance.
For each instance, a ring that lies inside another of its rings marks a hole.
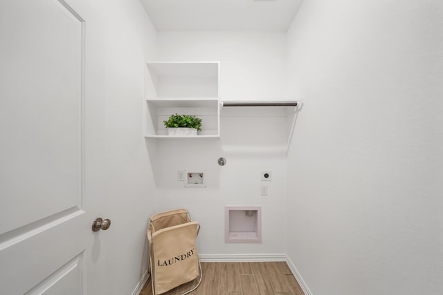
[[[282,99],[285,57],[284,33],[159,33],[159,60],[220,61],[221,100]]]

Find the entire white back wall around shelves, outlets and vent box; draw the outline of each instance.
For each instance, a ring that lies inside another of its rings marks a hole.
[[[220,61],[221,100],[283,98],[284,33],[161,32],[158,52],[160,61]],[[246,145],[234,144],[234,133],[239,133],[238,128],[222,118],[221,140],[158,140],[158,151],[151,154],[159,160],[158,209],[184,207],[192,213],[202,226],[198,239],[201,254],[284,254],[286,238],[281,229],[286,225],[286,162],[274,153],[253,154],[248,149],[245,153]],[[267,143],[262,138],[254,146]],[[226,166],[217,164],[221,156],[226,158]],[[208,187],[183,188],[183,182],[177,181],[177,171],[182,169],[206,170]],[[266,197],[260,196],[263,170],[273,172]],[[261,244],[224,243],[226,205],[262,206]]]

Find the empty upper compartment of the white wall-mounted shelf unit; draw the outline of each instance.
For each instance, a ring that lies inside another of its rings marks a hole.
[[[219,62],[148,62],[147,99],[219,97]]]

